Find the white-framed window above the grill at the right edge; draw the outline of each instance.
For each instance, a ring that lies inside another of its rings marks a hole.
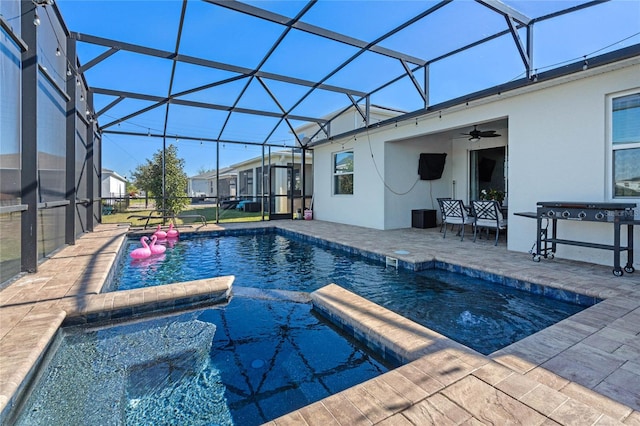
[[[613,196],[640,197],[640,93],[613,98],[611,134]]]

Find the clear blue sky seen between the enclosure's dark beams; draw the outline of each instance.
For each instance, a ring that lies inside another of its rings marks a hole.
[[[295,16],[305,5],[301,1],[251,1],[253,6],[271,12]],[[329,30],[371,41],[400,23],[434,5],[435,1],[319,1],[302,21]],[[583,1],[504,1],[530,17],[538,17]],[[177,0],[57,0],[70,31],[80,32],[155,49],[173,51],[182,2]],[[429,60],[478,38],[506,29],[505,20],[470,0],[455,0],[433,15],[410,26],[380,45],[421,59]],[[255,68],[283,27],[254,17],[241,15],[202,1],[189,1],[183,28],[180,53],[219,61],[249,69]],[[575,62],[584,56],[640,43],[640,1],[614,0],[571,16],[537,23],[534,27],[534,68],[543,71]],[[524,33],[521,34],[524,37]],[[86,43],[78,44],[81,63],[87,63],[106,49]],[[335,67],[357,52],[351,46],[320,39],[294,30],[263,64],[261,70],[306,80],[324,78]],[[360,55],[326,83],[350,89],[370,91],[391,78],[402,75],[399,61],[366,53]],[[171,75],[171,62],[120,51],[86,72],[89,85],[165,97]],[[180,63],[176,68],[172,93],[223,80],[236,73]],[[524,76],[524,67],[513,39],[502,37],[471,51],[435,63],[430,70],[432,103],[462,96]],[[416,77],[422,81],[422,73]],[[182,99],[230,105],[243,90],[247,79],[184,96]],[[266,80],[280,105],[288,110],[307,92],[307,88]],[[115,98],[94,98],[100,111]],[[405,78],[372,97],[372,103],[403,111],[421,108],[422,100]],[[126,100],[99,117],[104,126],[115,117],[138,111],[151,103]],[[322,117],[350,104],[343,94],[314,91],[293,113]],[[278,105],[254,79],[238,103],[239,107],[280,112]],[[162,133],[165,107],[114,125],[113,130],[146,134]],[[169,135],[195,138],[218,138],[226,112],[194,110],[172,105],[167,124]],[[224,144],[220,148],[220,167],[260,155],[261,148],[251,143],[264,142],[277,120],[248,114],[232,114],[222,139],[246,141],[247,145]],[[293,121],[294,126],[305,124]],[[105,135],[103,167],[130,176],[136,165],[162,147],[153,137]],[[199,140],[167,139],[178,146],[185,159],[188,175],[215,169],[215,144]],[[277,127],[269,143],[291,145],[293,135],[284,123]]]

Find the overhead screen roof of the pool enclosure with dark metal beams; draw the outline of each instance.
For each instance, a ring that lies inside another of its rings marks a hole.
[[[333,111],[423,111],[640,39],[640,2],[624,0],[53,7],[103,133],[281,147],[303,145],[294,129],[305,124],[320,134]]]

